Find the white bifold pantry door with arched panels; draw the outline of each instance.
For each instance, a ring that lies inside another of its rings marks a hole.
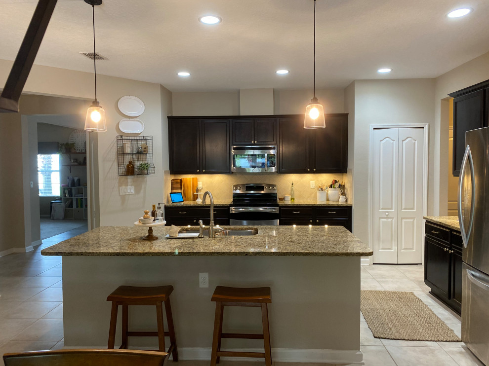
[[[373,262],[421,263],[422,128],[373,130]]]

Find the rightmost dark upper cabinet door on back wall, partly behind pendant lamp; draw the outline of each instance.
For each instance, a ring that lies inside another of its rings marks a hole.
[[[326,128],[308,131],[310,169],[314,173],[346,173],[348,167],[348,115],[326,114]]]

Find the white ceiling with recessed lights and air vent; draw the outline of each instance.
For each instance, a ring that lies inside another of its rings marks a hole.
[[[36,3],[0,0],[0,59],[15,58]],[[474,11],[447,18],[463,6]],[[201,24],[205,14],[223,21]],[[489,51],[488,19],[488,0],[317,0],[317,88],[439,76]],[[105,0],[95,26],[109,60],[97,71],[171,91],[312,88],[312,21],[312,0]],[[79,54],[92,51],[91,27],[88,4],[58,0],[36,64],[91,72]]]

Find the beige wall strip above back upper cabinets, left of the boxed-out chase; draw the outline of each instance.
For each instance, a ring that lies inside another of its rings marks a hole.
[[[240,93],[172,93],[173,115],[239,115]]]

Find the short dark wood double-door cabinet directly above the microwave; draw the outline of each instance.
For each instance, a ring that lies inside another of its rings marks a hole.
[[[276,145],[276,118],[233,119],[233,145]]]

